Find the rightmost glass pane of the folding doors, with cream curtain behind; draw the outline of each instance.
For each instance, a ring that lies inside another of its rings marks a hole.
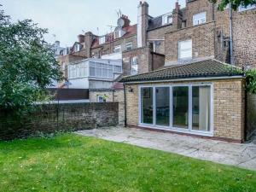
[[[211,127],[211,87],[192,88],[192,130],[210,131]]]

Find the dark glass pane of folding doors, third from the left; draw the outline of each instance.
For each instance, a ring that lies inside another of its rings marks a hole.
[[[173,122],[177,128],[189,128],[189,87],[173,87],[172,99]]]

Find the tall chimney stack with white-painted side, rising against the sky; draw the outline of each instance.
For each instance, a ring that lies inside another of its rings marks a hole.
[[[140,2],[137,7],[137,47],[147,45],[148,3]]]

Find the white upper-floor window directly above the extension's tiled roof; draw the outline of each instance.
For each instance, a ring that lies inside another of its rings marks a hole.
[[[192,58],[192,40],[178,42],[178,59],[188,60]]]

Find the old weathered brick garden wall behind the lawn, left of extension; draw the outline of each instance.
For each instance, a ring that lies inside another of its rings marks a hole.
[[[27,137],[37,132],[78,131],[119,124],[119,103],[72,103],[35,106],[26,118],[0,111],[0,140]]]

